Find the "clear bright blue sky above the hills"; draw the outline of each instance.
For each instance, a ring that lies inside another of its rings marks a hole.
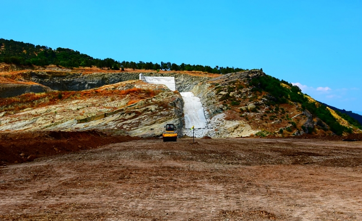
[[[0,37],[117,61],[263,68],[362,114],[362,1],[2,0]]]

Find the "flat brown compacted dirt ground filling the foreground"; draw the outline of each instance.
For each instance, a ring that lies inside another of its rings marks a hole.
[[[361,141],[124,141],[5,163],[0,220],[362,220]]]

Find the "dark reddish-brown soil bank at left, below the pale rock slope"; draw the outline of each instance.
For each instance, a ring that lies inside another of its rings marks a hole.
[[[92,149],[135,139],[139,138],[106,136],[97,131],[0,133],[0,166],[31,162],[42,156]]]

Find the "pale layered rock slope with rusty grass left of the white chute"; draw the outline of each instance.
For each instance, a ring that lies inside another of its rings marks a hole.
[[[85,97],[85,93],[91,96]],[[44,107],[2,112],[0,131],[99,130],[157,137],[166,123],[173,123],[182,134],[182,108],[178,92],[163,85],[127,81],[75,93]]]

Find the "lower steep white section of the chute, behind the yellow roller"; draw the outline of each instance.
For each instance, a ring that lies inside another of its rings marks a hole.
[[[181,92],[184,99],[184,115],[185,115],[185,131],[188,136],[193,135],[190,130],[194,126],[195,137],[205,136],[207,120],[204,114],[204,108],[199,97],[196,97],[192,92]]]

